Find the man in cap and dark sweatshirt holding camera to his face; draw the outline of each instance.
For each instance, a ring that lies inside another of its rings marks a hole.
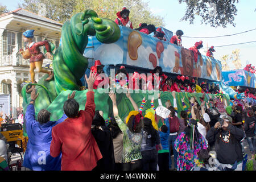
[[[207,135],[208,142],[214,142],[217,160],[222,168],[235,168],[242,171],[242,146],[241,140],[244,133],[241,129],[232,125],[232,118],[224,114],[222,118],[212,127]]]

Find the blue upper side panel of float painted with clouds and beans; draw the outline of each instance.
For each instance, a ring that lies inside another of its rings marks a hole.
[[[134,67],[154,69],[163,68],[163,72],[221,81],[221,63],[216,59],[202,55],[197,63],[193,52],[183,47],[164,42],[154,36],[143,34],[120,26],[121,37],[112,44],[102,44],[95,36],[90,36],[84,56],[89,59],[89,68],[94,60],[102,64],[124,64]]]

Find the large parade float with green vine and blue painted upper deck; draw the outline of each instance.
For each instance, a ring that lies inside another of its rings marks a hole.
[[[166,30],[167,32],[167,30]],[[172,33],[168,31],[168,36]],[[81,89],[81,78],[89,71],[95,60],[100,60],[105,65],[104,71],[110,74],[110,69],[118,69],[125,65],[128,72],[149,73],[156,66],[163,68],[163,72],[170,77],[185,75],[208,81],[221,82],[221,63],[207,56],[198,56],[194,60],[193,52],[183,47],[158,38],[142,34],[141,32],[118,26],[113,20],[99,18],[93,10],[85,10],[72,16],[63,24],[61,30],[61,45],[53,55],[54,78],[44,81],[45,75],[37,84],[27,84],[22,88],[23,112],[26,113],[30,102],[30,93],[26,93],[27,86],[36,85],[39,93],[35,101],[36,115],[41,109],[51,112],[51,121],[56,121],[63,115],[63,104],[68,94],[77,90],[75,99],[84,109],[87,90]],[[111,85],[110,85],[111,87]],[[108,96],[109,89],[94,90],[96,110],[102,110],[106,119],[112,115],[112,101]],[[144,109],[150,108],[150,96],[155,98],[155,108],[158,107],[158,90],[136,90],[131,93],[137,105],[141,105],[143,97],[146,97]],[[124,119],[133,106],[125,93],[117,92],[117,105],[120,117]],[[185,96],[185,104],[189,107],[189,98],[195,96],[200,104],[201,93],[176,93],[178,114],[183,108],[181,98]],[[223,94],[223,98],[229,103],[229,95]],[[212,95],[214,98],[214,96]],[[161,100],[164,104],[173,97],[170,92],[161,92]],[[209,100],[209,96],[204,98]],[[165,105],[164,105],[165,106]],[[23,128],[26,136],[26,127]]]

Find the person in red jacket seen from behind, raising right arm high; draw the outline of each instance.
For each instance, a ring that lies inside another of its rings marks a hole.
[[[91,131],[96,107],[93,92],[96,73],[90,71],[85,80],[88,84],[85,109],[79,111],[75,99],[67,100],[63,109],[68,118],[52,128],[50,153],[53,158],[62,153],[61,171],[90,171],[102,158]]]

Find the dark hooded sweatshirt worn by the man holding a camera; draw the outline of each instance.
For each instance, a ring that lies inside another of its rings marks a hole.
[[[225,134],[226,133],[226,134]],[[230,134],[230,137],[228,136]],[[222,131],[222,138],[218,130],[212,127],[207,135],[208,142],[215,142],[215,151],[217,159],[222,164],[234,164],[236,161],[241,162],[243,159],[242,146],[240,144],[243,139],[243,131],[231,125],[228,131]]]

